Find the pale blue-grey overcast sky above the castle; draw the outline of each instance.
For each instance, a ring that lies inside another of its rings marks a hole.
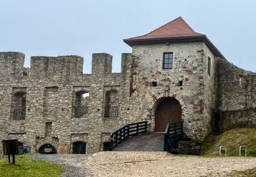
[[[253,0],[0,0],[0,51],[30,57],[79,55],[91,72],[92,53],[131,52],[124,38],[139,36],[182,16],[207,35],[231,63],[256,71],[256,1]]]

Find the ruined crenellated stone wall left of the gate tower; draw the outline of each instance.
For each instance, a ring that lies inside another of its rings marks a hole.
[[[122,68],[129,68],[125,61],[129,56],[123,55]],[[82,73],[83,58],[79,56],[32,57],[31,68],[25,69],[24,54],[0,52],[0,63],[0,141],[15,138],[32,151],[45,143],[57,150],[67,143],[69,152],[73,142],[84,141],[87,152],[99,151],[106,135],[130,121],[126,114],[127,71],[111,73],[111,55],[94,54],[92,74]],[[115,98],[119,116],[105,118],[104,93],[113,87],[119,92],[120,99]],[[26,93],[26,118],[22,120],[14,120],[12,115],[13,96],[18,92]],[[75,117],[77,92],[90,94],[86,117]]]

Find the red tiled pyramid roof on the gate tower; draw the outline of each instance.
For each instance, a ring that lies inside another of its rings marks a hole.
[[[125,40],[145,40],[145,39],[156,39],[156,38],[179,38],[179,37],[191,37],[191,36],[205,36],[195,32],[183,17],[178,17],[172,22],[169,22],[156,30],[145,34],[143,36],[137,36],[134,38],[127,38]]]

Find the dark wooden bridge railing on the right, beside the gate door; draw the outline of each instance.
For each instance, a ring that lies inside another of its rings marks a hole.
[[[164,151],[177,153],[177,142],[183,138],[183,122],[174,122],[166,125],[164,132]]]

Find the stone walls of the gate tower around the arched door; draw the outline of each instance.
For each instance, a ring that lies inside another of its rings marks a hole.
[[[173,68],[162,69],[163,53],[173,52]],[[149,120],[154,131],[154,114],[158,104],[168,97],[176,98],[182,107],[185,133],[201,141],[210,127],[210,106],[205,108],[214,85],[214,69],[207,76],[207,56],[203,42],[150,44],[133,46],[131,61],[130,105],[134,120]],[[152,84],[156,81],[156,87]],[[183,81],[183,85],[179,85]],[[210,85],[207,85],[210,83]],[[207,101],[205,101],[205,97]]]

